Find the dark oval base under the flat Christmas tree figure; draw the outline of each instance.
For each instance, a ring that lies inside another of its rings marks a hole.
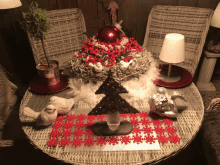
[[[129,121],[121,121],[119,128],[115,131],[112,131],[108,128],[106,121],[96,122],[92,126],[92,132],[97,136],[119,136],[119,135],[128,135],[133,131],[133,124]]]

